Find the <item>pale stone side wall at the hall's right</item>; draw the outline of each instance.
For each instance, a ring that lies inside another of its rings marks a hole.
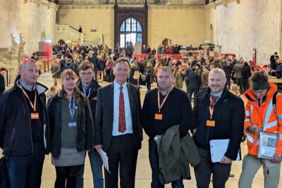
[[[281,50],[281,0],[240,0],[240,4],[219,2],[207,7],[206,39],[212,24],[214,43],[222,45],[223,53],[248,61],[255,47],[258,63],[266,64],[274,51]]]

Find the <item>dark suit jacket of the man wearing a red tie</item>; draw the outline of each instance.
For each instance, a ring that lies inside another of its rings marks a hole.
[[[142,127],[140,123],[140,90],[133,84],[126,83],[133,126],[133,142],[135,149],[141,149]],[[102,144],[103,150],[108,152],[113,142],[114,121],[114,82],[101,87],[97,93],[97,111],[94,125],[95,145]]]

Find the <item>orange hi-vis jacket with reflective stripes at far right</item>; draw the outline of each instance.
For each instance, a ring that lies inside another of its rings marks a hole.
[[[272,104],[275,92],[277,92],[276,86],[271,83],[271,87],[266,93],[266,102],[260,106],[252,89],[248,89],[244,93],[248,100],[245,107],[244,123],[245,132],[247,133],[247,150],[253,156],[257,156],[259,136],[247,131],[247,127],[252,125],[263,127],[264,132],[277,133],[278,139],[275,153],[282,155],[282,94],[278,93],[276,96],[276,115]]]

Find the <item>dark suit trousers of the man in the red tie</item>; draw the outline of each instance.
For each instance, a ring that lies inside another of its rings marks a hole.
[[[118,167],[121,188],[135,187],[137,154],[133,134],[112,137],[111,146],[107,152],[111,174],[104,169],[106,188],[118,188]]]

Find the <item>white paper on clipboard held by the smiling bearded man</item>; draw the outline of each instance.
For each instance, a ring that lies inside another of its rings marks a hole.
[[[212,163],[219,163],[223,158],[224,154],[228,148],[229,139],[212,139],[209,141],[211,149]],[[238,156],[236,161],[240,160],[240,151],[238,151]]]

